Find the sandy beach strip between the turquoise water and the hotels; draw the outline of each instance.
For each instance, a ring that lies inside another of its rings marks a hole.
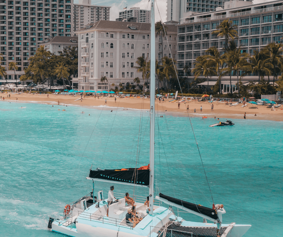
[[[2,96],[1,102],[8,102],[17,100],[19,102],[38,102],[38,103],[47,103],[62,107],[64,104],[66,105],[80,105],[80,106],[101,106],[105,104],[105,99],[107,99],[106,108],[113,109],[116,107],[119,108],[131,108],[131,109],[149,109],[150,99],[142,99],[142,98],[120,98],[117,97],[115,103],[115,97],[90,97],[86,96],[81,100],[77,100],[80,96],[69,96],[69,95],[53,95],[49,94],[10,94],[10,98],[7,97],[9,94],[1,93]],[[3,96],[5,100],[3,101]],[[16,99],[17,98],[17,99]],[[253,105],[247,103],[247,106],[241,107],[243,104],[238,104],[236,106],[225,105],[225,102],[213,102],[213,111],[211,111],[211,103],[208,102],[198,102],[198,101],[188,101],[187,103],[181,103],[180,109],[178,109],[178,103],[171,103],[168,99],[165,100],[164,103],[159,103],[158,100],[155,102],[155,109],[158,112],[170,113],[170,115],[176,116],[188,116],[188,114],[192,117],[203,117],[207,118],[244,118],[244,113],[246,112],[247,119],[260,119],[260,120],[273,120],[273,121],[283,121],[283,109],[282,106],[278,109],[275,108],[275,111],[271,110],[270,107],[264,105]],[[189,111],[187,113],[187,106],[189,106]],[[200,107],[202,106],[202,112]],[[63,109],[63,108],[62,108]],[[66,109],[66,108],[64,108]],[[194,113],[194,109],[196,109],[196,113]],[[282,109],[282,110],[281,110]],[[166,111],[167,110],[167,111]],[[257,114],[257,116],[254,116]]]

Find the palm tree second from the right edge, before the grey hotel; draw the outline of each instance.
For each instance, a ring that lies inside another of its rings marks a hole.
[[[264,75],[271,74],[269,68],[272,68],[273,65],[268,62],[264,51],[259,51],[258,49],[254,50],[253,57],[250,57],[250,63],[252,67],[251,72],[258,74],[258,83],[260,83],[260,79],[264,78]]]

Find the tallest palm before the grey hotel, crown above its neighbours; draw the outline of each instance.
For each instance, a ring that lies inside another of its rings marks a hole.
[[[237,28],[238,26],[233,25],[232,21],[223,20],[220,25],[216,27],[216,30],[212,32],[212,34],[217,35],[219,38],[225,38],[224,53],[227,51],[228,42],[238,37]]]

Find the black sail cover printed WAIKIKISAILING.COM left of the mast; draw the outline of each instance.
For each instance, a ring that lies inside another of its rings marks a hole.
[[[137,170],[135,168],[128,168],[127,170],[90,170],[89,177],[148,186],[149,172],[149,169]]]

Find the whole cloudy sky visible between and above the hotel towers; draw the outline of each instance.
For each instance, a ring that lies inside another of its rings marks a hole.
[[[168,0],[169,1],[169,0]],[[81,0],[74,0],[74,3],[82,2]],[[271,0],[254,0],[253,4],[271,2]],[[132,7],[139,7],[141,9],[150,10],[150,4],[148,0],[92,0],[92,5],[103,5],[110,6],[110,20],[116,20],[119,17],[119,11],[127,7],[128,9]],[[160,21],[166,22],[166,0],[156,0],[157,8],[155,8],[155,22]],[[155,5],[156,7],[156,5]]]

